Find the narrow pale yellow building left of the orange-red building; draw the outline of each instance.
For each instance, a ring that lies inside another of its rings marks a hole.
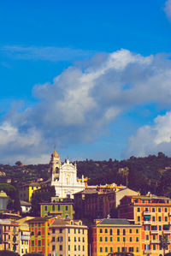
[[[28,220],[33,217],[22,217],[16,222],[19,223],[19,253],[22,256],[25,253],[29,253],[29,241],[30,241],[30,230]]]

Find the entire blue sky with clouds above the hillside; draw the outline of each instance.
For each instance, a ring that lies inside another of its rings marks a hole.
[[[171,0],[0,3],[0,163],[171,152]]]

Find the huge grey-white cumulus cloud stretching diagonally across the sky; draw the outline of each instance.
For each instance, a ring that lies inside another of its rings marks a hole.
[[[137,105],[170,107],[170,80],[166,56],[127,50],[99,54],[69,67],[52,84],[34,86],[38,104],[3,116],[0,141],[6,132],[6,147],[15,145],[23,158],[27,152],[27,161],[45,155],[54,144],[91,142],[116,116]]]

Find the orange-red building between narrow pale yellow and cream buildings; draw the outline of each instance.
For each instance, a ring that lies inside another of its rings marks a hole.
[[[34,217],[28,220],[30,230],[29,253],[50,255],[50,224],[55,217]]]

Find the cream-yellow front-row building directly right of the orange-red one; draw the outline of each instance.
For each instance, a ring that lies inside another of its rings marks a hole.
[[[87,231],[80,220],[56,218],[50,225],[50,256],[87,256]]]

